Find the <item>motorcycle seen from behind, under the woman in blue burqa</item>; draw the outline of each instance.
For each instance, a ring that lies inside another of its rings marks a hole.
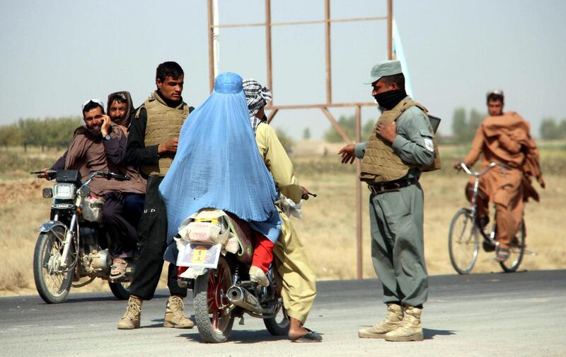
[[[303,198],[308,199],[308,195]],[[239,317],[243,324],[244,313],[263,319],[265,328],[274,336],[289,331],[289,317],[274,281],[274,267],[267,272],[268,286],[250,280],[253,237],[247,222],[214,209],[188,217],[175,236],[177,266],[187,268],[180,273],[178,283],[192,288],[195,324],[205,342],[228,341],[234,319]]]

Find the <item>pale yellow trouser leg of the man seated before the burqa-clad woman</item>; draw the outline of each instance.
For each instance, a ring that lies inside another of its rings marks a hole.
[[[281,290],[283,306],[289,317],[306,322],[316,297],[316,276],[306,248],[296,234],[289,217],[279,211],[281,234],[275,244],[275,282]]]

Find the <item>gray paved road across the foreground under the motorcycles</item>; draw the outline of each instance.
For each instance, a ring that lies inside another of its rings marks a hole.
[[[321,344],[270,336],[252,317],[234,324],[226,344],[203,344],[196,329],[160,327],[165,290],[144,303],[142,328],[132,331],[116,329],[125,302],[110,293],[71,293],[59,305],[1,298],[0,356],[566,356],[566,271],[433,276],[423,342],[357,337],[384,312],[378,280],[318,289],[307,326]]]

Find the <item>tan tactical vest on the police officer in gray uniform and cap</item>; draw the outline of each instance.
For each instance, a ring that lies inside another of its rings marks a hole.
[[[375,130],[371,133],[367,142],[364,159],[362,160],[362,174],[359,176],[361,181],[376,183],[394,181],[405,176],[409,169],[413,167],[416,167],[420,171],[434,171],[440,169],[440,154],[438,151],[436,137],[432,138],[432,143],[434,145],[434,162],[431,166],[422,166],[405,164],[398,154],[393,152],[391,144],[384,142],[381,137],[377,135],[376,130],[379,123],[393,123],[401,116],[401,114],[403,114],[404,111],[412,106],[417,106],[428,120],[427,108],[424,108],[421,104],[412,101],[410,98],[403,99],[403,101],[400,101],[395,108],[391,109],[391,111],[384,111],[381,114],[379,120],[377,120]],[[433,132],[432,125],[430,127],[430,132]]]

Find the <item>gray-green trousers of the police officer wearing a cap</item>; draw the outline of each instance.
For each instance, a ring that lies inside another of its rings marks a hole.
[[[422,305],[427,301],[429,284],[424,263],[420,184],[371,194],[369,220],[371,260],[383,284],[383,301]]]

